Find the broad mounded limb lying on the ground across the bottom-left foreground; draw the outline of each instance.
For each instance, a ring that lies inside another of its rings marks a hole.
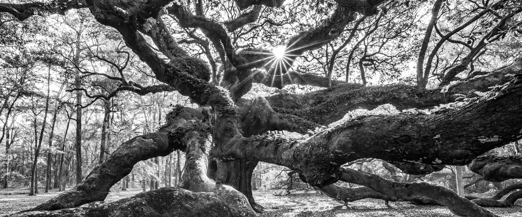
[[[56,211],[32,211],[10,215],[29,216],[243,216],[232,212],[213,193],[194,193],[176,187],[162,187],[150,192],[112,202],[92,202],[78,208]]]

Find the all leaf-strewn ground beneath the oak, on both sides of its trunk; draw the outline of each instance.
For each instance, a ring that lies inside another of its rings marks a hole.
[[[111,189],[107,196],[108,201],[130,197],[141,192],[141,188]],[[51,190],[50,193],[41,193],[38,196],[18,195],[21,192],[29,192],[28,189],[0,189],[0,215],[6,216],[23,209],[28,209],[44,202],[59,192]],[[11,195],[4,195],[11,193]],[[390,202],[390,207],[384,205],[383,200],[364,199],[349,203],[350,209],[343,206],[343,202],[334,200],[316,192],[298,192],[290,196],[274,196],[274,192],[254,191],[255,200],[265,207],[265,213],[259,217],[453,217],[454,214],[442,206],[413,205],[410,202]],[[493,213],[502,217],[522,217],[522,201],[517,201],[515,206],[509,208],[488,208]]]

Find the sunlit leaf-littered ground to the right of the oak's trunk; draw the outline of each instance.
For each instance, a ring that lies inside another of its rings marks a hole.
[[[265,212],[258,217],[454,217],[446,207],[432,205],[414,205],[410,202],[389,202],[364,199],[348,203],[332,199],[321,194],[292,194],[274,196],[271,192],[254,193],[255,200],[265,207]],[[522,216],[522,201],[508,208],[488,208],[502,217]]]

